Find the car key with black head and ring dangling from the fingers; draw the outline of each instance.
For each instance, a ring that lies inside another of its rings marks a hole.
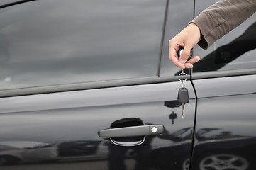
[[[180,78],[182,74],[186,76],[186,79],[182,80]],[[179,81],[182,81],[182,87],[179,88],[177,101],[179,103],[182,103],[182,118],[184,118],[184,106],[185,103],[189,103],[189,91],[185,87],[185,81],[187,81],[187,74],[184,73],[184,69],[182,69],[182,73],[179,74]]]

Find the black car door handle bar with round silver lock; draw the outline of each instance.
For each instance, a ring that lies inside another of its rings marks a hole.
[[[124,128],[111,128],[106,130],[100,130],[98,132],[99,137],[138,137],[138,136],[150,136],[160,135],[165,131],[163,125],[140,125]]]

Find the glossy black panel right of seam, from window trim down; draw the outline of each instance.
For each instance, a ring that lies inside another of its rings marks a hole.
[[[199,90],[192,169],[255,169],[255,75],[193,82]]]

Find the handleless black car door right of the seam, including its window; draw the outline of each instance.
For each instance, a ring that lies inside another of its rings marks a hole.
[[[196,1],[196,15],[215,1]],[[192,169],[255,169],[256,60],[252,15],[208,50],[194,64],[198,98]]]

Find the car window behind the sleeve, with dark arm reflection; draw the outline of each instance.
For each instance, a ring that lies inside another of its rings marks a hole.
[[[204,3],[201,3],[204,2]],[[196,16],[216,1],[196,1]],[[201,61],[194,64],[193,72],[233,72],[256,68],[256,14],[252,15],[240,26],[223,38],[216,41],[208,50],[196,45],[194,55],[199,55]]]

